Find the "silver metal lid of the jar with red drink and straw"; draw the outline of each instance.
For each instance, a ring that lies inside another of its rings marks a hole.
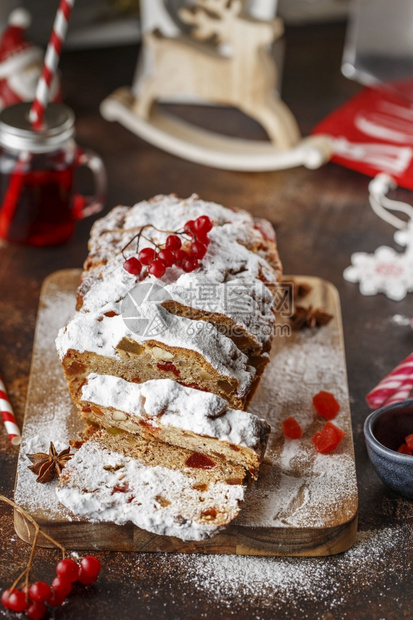
[[[29,120],[31,105],[31,102],[16,103],[0,112],[0,146],[45,153],[73,137],[75,116],[70,108],[62,103],[49,103],[43,127],[37,131]]]

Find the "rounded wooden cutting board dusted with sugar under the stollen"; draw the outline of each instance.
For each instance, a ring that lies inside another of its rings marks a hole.
[[[53,441],[67,447],[82,428],[72,404],[54,339],[73,315],[80,270],[58,271],[43,285],[37,319],[15,500],[49,535],[69,549],[175,551],[254,555],[331,555],[348,549],[357,531],[357,482],[353,452],[340,304],[332,284],[294,276],[312,287],[301,305],[324,306],[327,326],[291,332],[287,318],[277,324],[267,366],[250,410],[272,427],[260,478],[246,493],[240,516],[218,536],[184,542],[132,524],[90,523],[57,501],[56,482],[39,484],[27,454],[47,451]],[[282,312],[282,314],[286,314]],[[335,394],[341,410],[335,423],[346,437],[330,454],[318,454],[311,441],[325,422],[314,410],[319,390]],[[293,415],[304,429],[299,440],[283,436],[281,422]],[[15,513],[17,534],[32,541],[33,530]],[[40,539],[40,544],[47,540]]]

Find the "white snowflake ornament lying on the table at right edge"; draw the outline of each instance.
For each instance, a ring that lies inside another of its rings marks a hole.
[[[413,291],[413,252],[400,254],[385,245],[374,254],[355,252],[343,276],[347,282],[359,282],[362,295],[384,293],[400,301]]]

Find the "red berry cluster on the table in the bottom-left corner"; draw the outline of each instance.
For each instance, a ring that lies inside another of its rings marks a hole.
[[[46,603],[59,607],[72,590],[72,584],[80,581],[90,585],[98,578],[100,562],[95,556],[87,555],[80,564],[70,558],[60,560],[56,566],[56,577],[49,586],[45,581],[36,581],[27,593],[19,588],[9,588],[1,595],[3,607],[15,612],[24,611],[28,618],[40,620],[47,612]]]

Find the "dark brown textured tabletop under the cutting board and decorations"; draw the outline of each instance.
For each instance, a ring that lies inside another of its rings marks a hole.
[[[289,28],[283,98],[303,134],[359,87],[340,74],[344,26]],[[316,171],[237,173],[189,163],[104,121],[99,103],[130,85],[137,47],[68,52],[61,70],[66,102],[77,116],[78,142],[103,157],[109,176],[107,209],[157,193],[237,205],[273,222],[286,273],[317,275],[340,293],[359,482],[359,534],[352,549],[331,558],[248,558],[99,553],[103,571],[89,588],[75,587],[56,618],[411,618],[412,503],[387,490],[367,458],[362,426],[365,395],[413,350],[411,296],[401,302],[363,297],[343,280],[352,252],[393,245],[393,229],[368,203],[368,179],[328,164]],[[185,110],[191,119],[234,135],[262,137],[235,111]],[[411,202],[411,195],[397,190]],[[52,271],[80,267],[91,219],[64,247],[0,248],[0,367],[19,423],[23,422],[37,303]],[[53,386],[51,386],[53,389]],[[12,497],[17,449],[0,429],[0,493]],[[0,588],[24,568],[29,547],[0,503]],[[57,552],[39,550],[35,575],[51,579]],[[14,617],[0,611],[0,617]]]

